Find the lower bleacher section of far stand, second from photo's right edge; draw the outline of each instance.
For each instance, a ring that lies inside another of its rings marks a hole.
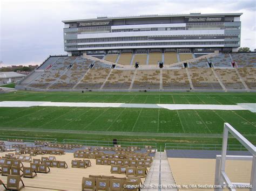
[[[215,69],[221,82],[228,90],[244,90],[245,87],[239,79],[235,69]]]

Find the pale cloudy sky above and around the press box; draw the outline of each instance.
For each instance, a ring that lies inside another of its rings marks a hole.
[[[62,20],[193,12],[242,12],[241,47],[256,48],[255,0],[0,0],[0,67],[40,65],[49,55],[66,54]]]

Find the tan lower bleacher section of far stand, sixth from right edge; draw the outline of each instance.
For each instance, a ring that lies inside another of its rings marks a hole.
[[[103,89],[129,89],[134,70],[113,69]]]

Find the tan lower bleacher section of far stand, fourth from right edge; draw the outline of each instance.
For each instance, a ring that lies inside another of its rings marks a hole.
[[[190,89],[185,68],[163,70],[163,89],[183,90]]]

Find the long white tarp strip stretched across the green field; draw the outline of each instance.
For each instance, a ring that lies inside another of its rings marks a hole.
[[[28,102],[3,101],[0,107],[95,107],[95,108],[165,108],[169,110],[202,109],[202,110],[250,110],[244,105],[211,105],[211,104],[136,104],[136,103],[87,103],[87,102]],[[255,108],[256,104],[250,105]],[[253,111],[252,111],[253,112]],[[254,111],[255,112],[255,111]]]

